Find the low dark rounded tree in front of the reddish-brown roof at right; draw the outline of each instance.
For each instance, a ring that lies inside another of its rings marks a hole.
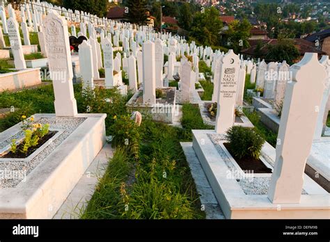
[[[289,65],[294,64],[300,54],[297,47],[294,46],[294,41],[285,38],[279,38],[276,45],[267,45],[268,60],[272,61],[286,61]]]

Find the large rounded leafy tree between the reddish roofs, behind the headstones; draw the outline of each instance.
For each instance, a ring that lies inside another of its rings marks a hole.
[[[214,46],[219,44],[219,33],[222,28],[217,8],[207,8],[203,13],[196,13],[194,16],[190,35],[199,45]]]

